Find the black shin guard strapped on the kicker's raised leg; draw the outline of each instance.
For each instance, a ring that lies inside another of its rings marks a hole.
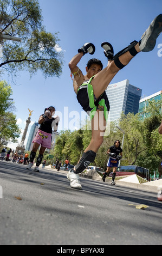
[[[114,63],[115,65],[119,68],[119,69],[122,69],[125,67],[125,65],[123,65],[120,60],[119,60],[119,57],[124,54],[125,52],[128,52],[131,53],[132,56],[135,56],[138,52],[135,50],[135,45],[138,44],[138,41],[133,41],[131,42],[130,45],[128,45],[126,48],[124,48],[123,50],[121,50],[120,52],[116,53],[116,55],[114,56]]]

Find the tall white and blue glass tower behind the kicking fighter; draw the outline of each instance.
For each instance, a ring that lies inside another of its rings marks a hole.
[[[129,80],[109,84],[106,94],[110,105],[110,121],[118,121],[122,112],[138,113],[142,90],[129,84]]]

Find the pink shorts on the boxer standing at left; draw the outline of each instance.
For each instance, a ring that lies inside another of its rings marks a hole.
[[[36,133],[36,136],[33,140],[33,143],[36,142],[38,144],[41,144],[43,148],[51,148],[51,133],[43,132],[41,130],[38,130]]]

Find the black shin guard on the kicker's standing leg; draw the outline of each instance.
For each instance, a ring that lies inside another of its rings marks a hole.
[[[83,153],[79,163],[75,166],[75,173],[82,173],[89,163],[94,162],[96,153],[92,150],[88,150],[86,153]]]

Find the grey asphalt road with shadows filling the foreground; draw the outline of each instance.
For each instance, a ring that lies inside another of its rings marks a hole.
[[[40,170],[0,161],[0,245],[162,245],[157,194]]]

